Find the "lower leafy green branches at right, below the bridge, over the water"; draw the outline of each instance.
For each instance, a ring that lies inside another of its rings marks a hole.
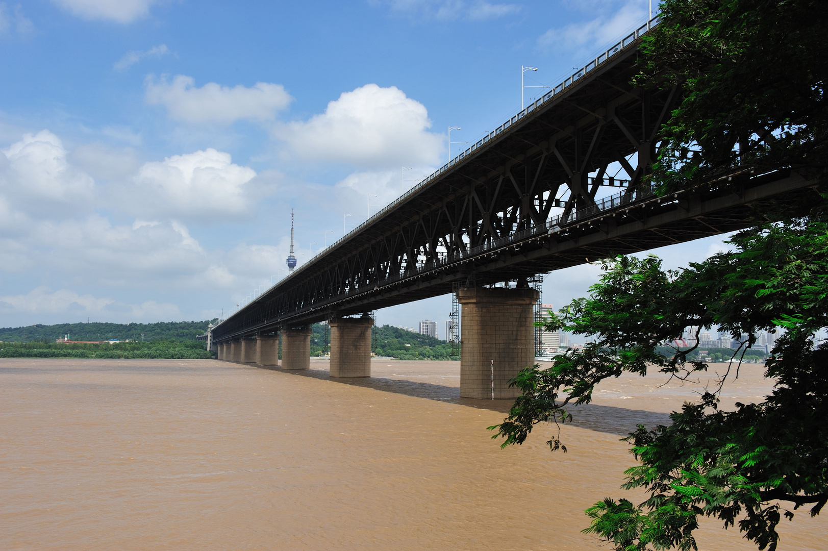
[[[658,346],[685,330],[697,336],[718,326],[747,346],[759,331],[784,328],[766,364],[775,386],[764,402],[718,408],[734,364],[699,404],[672,413],[669,426],[639,425],[627,438],[641,465],[626,471],[623,487],[643,488],[649,498],[640,505],[607,498],[587,510],[585,532],[614,549],[697,549],[693,531],[705,515],[724,527],[739,524],[759,549],[773,550],[782,516],[802,505],[816,515],[828,500],[828,348],[813,348],[828,326],[828,215],[746,230],[730,243],[733,252],[675,271],[652,256],[605,261],[590,297],[546,322],[548,331],[595,336],[595,343],[557,356],[549,369],[522,370],[513,382],[523,395],[492,427],[504,447],[519,444],[537,423],[568,422],[569,406],[588,404],[604,379],[705,371],[687,360],[692,349],[666,355]],[[560,437],[548,444],[566,451]]]

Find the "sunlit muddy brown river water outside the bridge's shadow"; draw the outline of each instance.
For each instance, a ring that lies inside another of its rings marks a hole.
[[[0,549],[607,549],[583,510],[633,466],[619,442],[699,386],[605,382],[562,429],[501,450],[508,401],[460,399],[459,362],[371,379],[214,360],[0,360]],[[717,366],[717,370],[724,369]],[[724,401],[768,392],[743,366]],[[702,381],[704,383],[704,381]],[[826,514],[780,549],[828,549]],[[700,549],[756,549],[705,521]]]

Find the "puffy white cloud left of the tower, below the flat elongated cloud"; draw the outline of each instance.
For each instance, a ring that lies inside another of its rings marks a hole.
[[[244,186],[254,176],[213,148],[145,162],[134,179],[140,198],[133,208],[202,222],[238,218],[250,208]]]

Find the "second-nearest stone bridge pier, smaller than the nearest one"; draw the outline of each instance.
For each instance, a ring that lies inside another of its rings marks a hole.
[[[371,327],[373,319],[334,318],[330,323],[330,376],[371,376]]]

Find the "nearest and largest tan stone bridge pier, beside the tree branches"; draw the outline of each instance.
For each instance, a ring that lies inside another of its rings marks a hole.
[[[509,388],[508,380],[535,363],[532,306],[537,297],[531,288],[460,289],[461,397],[492,398],[492,365],[494,398],[513,399],[521,394],[520,389]]]

